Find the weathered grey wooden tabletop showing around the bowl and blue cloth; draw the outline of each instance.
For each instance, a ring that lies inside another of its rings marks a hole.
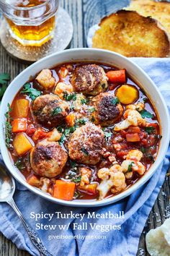
[[[71,15],[73,20],[73,40],[71,48],[86,47],[86,35],[91,25],[99,22],[101,17],[109,12],[116,10],[119,0],[62,0],[61,6]],[[128,4],[128,1],[121,1],[122,7]],[[119,3],[120,5],[120,3]],[[26,64],[20,64],[12,59],[4,48],[0,45],[0,73],[9,72],[12,78],[16,77],[19,72],[26,68]],[[151,210],[150,216],[146,221],[146,226],[140,236],[138,256],[148,255],[146,251],[145,236],[150,229],[160,226],[167,217],[170,217],[170,176],[166,176],[161,192]],[[28,256],[27,252],[17,249],[11,241],[0,235],[0,255],[1,256]],[[119,256],[119,255],[117,255]]]

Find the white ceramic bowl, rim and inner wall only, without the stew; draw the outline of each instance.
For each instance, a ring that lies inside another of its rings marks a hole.
[[[156,107],[158,118],[161,124],[161,135],[162,139],[160,142],[160,148],[158,150],[158,155],[156,161],[153,163],[153,166],[149,169],[149,171],[141,177],[133,186],[129,187],[124,192],[119,195],[115,195],[113,197],[109,197],[108,199],[97,201],[97,200],[73,200],[73,201],[64,201],[59,200],[54,197],[51,197],[45,192],[42,192],[40,189],[30,186],[24,179],[22,173],[12,165],[11,156],[5,145],[5,135],[4,135],[4,114],[7,111],[7,103],[12,103],[14,99],[14,95],[17,94],[18,90],[22,88],[25,82],[30,79],[30,77],[35,76],[42,69],[54,67],[57,64],[61,64],[63,62],[71,62],[71,61],[97,61],[104,64],[110,64],[115,67],[119,67],[120,69],[125,68],[130,74],[130,77],[140,85],[145,92],[148,94],[148,97],[151,98],[152,103]],[[146,60],[147,61],[147,60]],[[116,54],[112,51],[104,51],[100,49],[91,49],[91,48],[76,48],[66,51],[61,51],[59,53],[55,53],[53,55],[47,56],[44,59],[40,59],[40,61],[35,62],[27,69],[24,69],[9,85],[4,94],[4,98],[1,101],[1,113],[0,113],[0,148],[1,155],[4,159],[4,162],[11,172],[12,176],[18,180],[24,187],[30,189],[30,191],[34,192],[41,197],[50,200],[55,203],[59,203],[62,205],[69,206],[86,206],[86,207],[94,207],[99,205],[108,205],[112,202],[117,202],[124,197],[132,194],[136,189],[141,187],[144,183],[151,178],[151,176],[155,173],[156,169],[160,165],[161,161],[163,161],[164,156],[166,154],[166,150],[169,145],[169,135],[170,135],[170,123],[169,123],[169,112],[166,107],[166,103],[164,102],[163,97],[159,93],[156,85],[154,85],[153,81],[148,77],[148,75],[140,69],[133,61],[127,59],[125,56],[121,56],[120,54]]]

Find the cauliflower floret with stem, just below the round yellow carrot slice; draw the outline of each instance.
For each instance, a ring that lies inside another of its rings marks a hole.
[[[143,119],[140,113],[136,110],[127,109],[124,114],[125,120],[120,121],[120,123],[115,125],[114,130],[116,132],[121,129],[127,129],[130,126],[138,127],[138,126],[146,126],[146,119]]]

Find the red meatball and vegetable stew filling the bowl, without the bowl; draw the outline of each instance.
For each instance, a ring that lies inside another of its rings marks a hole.
[[[161,140],[156,111],[125,69],[43,69],[6,112],[6,146],[27,183],[61,200],[102,200],[133,185]]]

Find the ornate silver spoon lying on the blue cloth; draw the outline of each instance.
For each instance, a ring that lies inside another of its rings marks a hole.
[[[22,216],[22,213],[17,208],[17,205],[14,202],[13,195],[15,191],[15,182],[12,176],[7,171],[6,167],[1,165],[0,163],[0,202],[7,202],[14,211],[17,213],[17,216],[21,219],[25,229],[27,230],[27,234],[30,236],[30,240],[32,244],[38,249],[41,255],[43,256],[53,256],[48,252],[45,248],[40,237],[35,233],[34,229],[32,229]]]

